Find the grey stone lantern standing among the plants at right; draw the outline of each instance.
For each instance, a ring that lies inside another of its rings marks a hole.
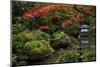
[[[83,24],[80,26],[80,34],[79,34],[79,46],[80,48],[87,48],[91,44],[89,38],[89,26]]]

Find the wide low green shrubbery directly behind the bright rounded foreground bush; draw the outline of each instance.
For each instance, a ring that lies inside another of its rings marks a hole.
[[[25,43],[30,40],[50,40],[50,36],[40,30],[32,32],[21,32],[17,35],[13,35],[14,42]]]

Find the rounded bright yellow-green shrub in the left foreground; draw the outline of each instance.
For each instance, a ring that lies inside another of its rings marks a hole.
[[[46,40],[33,40],[27,42],[24,46],[25,54],[31,60],[43,59],[54,52],[51,48],[49,41]]]

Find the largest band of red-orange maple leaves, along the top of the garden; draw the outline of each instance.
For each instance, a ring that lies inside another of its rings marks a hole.
[[[58,4],[50,4],[48,6],[45,7],[41,7],[40,9],[37,9],[35,11],[28,11],[26,12],[23,17],[24,18],[33,18],[33,17],[40,17],[42,15],[47,14],[49,11],[55,10],[55,8],[59,7]]]

